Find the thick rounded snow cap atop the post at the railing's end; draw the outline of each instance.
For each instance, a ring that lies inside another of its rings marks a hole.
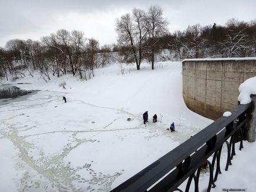
[[[251,95],[256,95],[256,77],[245,80],[238,88],[238,101],[240,104],[248,104],[251,102]]]

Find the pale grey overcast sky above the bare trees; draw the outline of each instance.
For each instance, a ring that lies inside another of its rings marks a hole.
[[[194,24],[225,25],[231,18],[256,19],[255,0],[0,0],[0,5],[0,47],[14,38],[40,40],[58,29],[83,31],[100,45],[115,43],[116,18],[150,5],[163,8],[170,32]]]

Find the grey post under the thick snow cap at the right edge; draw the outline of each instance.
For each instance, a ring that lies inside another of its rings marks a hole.
[[[251,106],[251,118],[248,122],[248,130],[247,130],[247,141],[254,142],[255,141],[255,131],[256,131],[256,95],[251,95],[252,106]]]

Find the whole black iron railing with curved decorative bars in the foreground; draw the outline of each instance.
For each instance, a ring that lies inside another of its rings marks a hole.
[[[235,155],[236,141],[240,142],[239,150],[243,148],[242,140],[246,131],[245,124],[248,121],[250,107],[251,104],[238,105],[231,110],[231,116],[219,118],[111,192],[182,191],[179,186],[187,178],[185,191],[189,191],[192,180],[195,183],[195,191],[198,191],[203,161],[209,165],[207,191],[210,191],[211,187],[215,187],[215,181],[218,174],[221,173],[220,159],[223,145],[227,145],[228,150],[226,171]],[[208,160],[211,155],[213,155],[212,162]]]

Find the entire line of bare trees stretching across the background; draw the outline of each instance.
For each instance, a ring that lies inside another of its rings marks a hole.
[[[152,5],[145,11],[134,8],[116,19],[117,44],[100,47],[81,31],[58,30],[41,41],[11,39],[0,47],[0,78],[12,80],[38,72],[48,81],[51,76],[78,75],[88,80],[94,69],[109,62],[181,61],[185,58],[256,57],[256,19],[251,22],[230,19],[225,26],[199,24],[184,31],[168,32],[163,9]],[[162,50],[168,54],[162,56]],[[34,72],[32,72],[34,71]]]

